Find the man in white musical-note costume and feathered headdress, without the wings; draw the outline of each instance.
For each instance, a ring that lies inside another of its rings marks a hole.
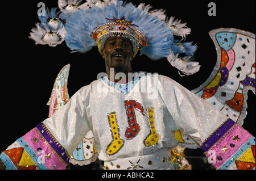
[[[67,7],[76,9],[73,4]],[[88,16],[94,16],[95,24]],[[65,27],[53,27],[51,20],[38,24],[31,33],[36,43],[55,46],[65,36],[69,48],[86,52],[95,41],[108,76],[82,87],[65,106],[3,151],[0,158],[6,168],[65,169],[77,145],[92,131],[104,169],[172,169],[169,150],[177,145],[201,146],[217,169],[236,169],[236,159],[255,145],[255,137],[172,79],[133,73],[130,61],[138,50],[152,59],[168,57],[184,74],[198,70],[196,62],[189,61],[196,47],[178,44],[175,31],[159,17],[131,3],[113,1],[69,15]],[[174,137],[177,131],[186,140],[183,144]]]

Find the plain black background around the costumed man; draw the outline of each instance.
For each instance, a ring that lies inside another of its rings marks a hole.
[[[97,74],[105,72],[105,62],[93,48],[85,54],[70,53],[65,42],[55,48],[35,45],[28,39],[31,28],[39,22],[38,3],[49,8],[57,7],[57,1],[30,0],[9,1],[1,11],[1,144],[5,150],[17,138],[26,134],[48,117],[48,102],[53,83],[64,65],[71,64],[68,92],[72,96],[82,86],[94,81]],[[145,2],[154,9],[166,9],[168,17],[174,16],[186,22],[192,32],[186,41],[199,46],[195,58],[201,64],[198,73],[180,77],[175,68],[163,58],[159,61],[137,56],[132,62],[136,70],[167,75],[192,90],[209,77],[217,54],[208,32],[215,28],[238,28],[255,33],[255,1],[128,1],[139,5]],[[216,16],[208,15],[209,2],[216,3]],[[255,136],[255,95],[250,91],[247,100],[248,115],[243,127]],[[203,156],[199,150],[187,151],[195,157]],[[193,162],[193,159],[189,159]],[[196,164],[196,163],[195,163]],[[193,166],[193,163],[192,163]],[[193,169],[204,169],[194,166]]]

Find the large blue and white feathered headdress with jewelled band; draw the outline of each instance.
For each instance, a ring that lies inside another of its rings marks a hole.
[[[141,3],[135,7],[121,0],[59,0],[59,9],[46,10],[39,16],[40,23],[32,29],[31,39],[36,44],[52,47],[65,40],[72,52],[88,52],[92,47],[101,49],[111,36],[123,36],[133,43],[134,56],[140,50],[152,60],[166,57],[180,75],[199,71],[193,61],[197,45],[183,43],[191,30],[185,23],[168,19],[165,10],[151,10],[152,6]],[[181,36],[176,40],[175,36]],[[180,54],[184,56],[181,57]]]

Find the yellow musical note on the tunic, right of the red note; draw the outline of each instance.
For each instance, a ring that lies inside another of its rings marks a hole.
[[[153,108],[148,108],[147,109],[148,113],[148,119],[150,122],[150,134],[148,134],[147,138],[144,140],[144,145],[145,146],[152,146],[156,145],[158,143],[159,136],[156,133],[155,130],[155,124],[154,124],[154,109]]]

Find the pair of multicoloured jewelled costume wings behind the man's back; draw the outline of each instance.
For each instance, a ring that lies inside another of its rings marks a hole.
[[[192,92],[242,125],[247,115],[247,92],[251,90],[255,94],[255,34],[235,28],[219,28],[209,34],[217,50],[216,66],[207,81]],[[70,65],[64,66],[57,75],[51,98],[47,103],[49,116],[69,101],[69,68]],[[181,148],[198,147],[180,130],[175,132],[174,137],[179,141]],[[73,152],[70,162],[88,165],[96,161],[98,154],[93,141],[93,133],[89,132]],[[170,152],[177,153],[177,149]],[[174,154],[171,155],[173,159],[176,158],[173,157]],[[176,159],[172,164],[177,164]]]

